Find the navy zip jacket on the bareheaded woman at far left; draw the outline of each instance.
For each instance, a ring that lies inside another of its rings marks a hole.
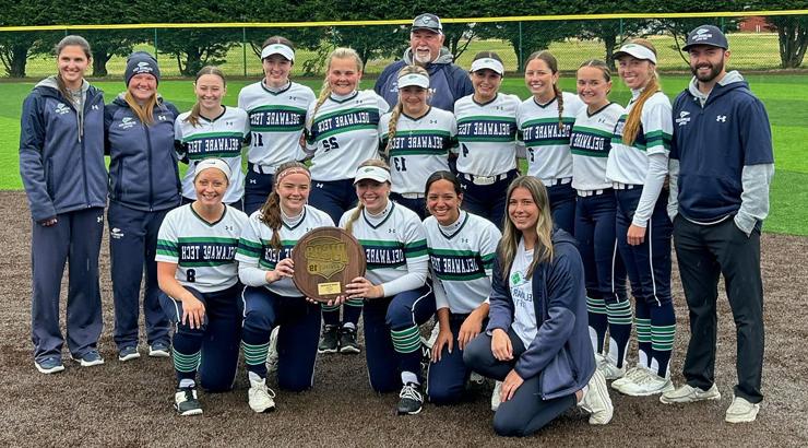
[[[56,81],[45,80],[25,98],[20,121],[20,176],[34,221],[107,204],[100,90],[86,91],[80,123]]]

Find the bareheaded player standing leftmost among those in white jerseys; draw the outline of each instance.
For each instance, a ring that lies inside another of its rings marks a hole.
[[[247,114],[238,107],[222,105],[227,94],[225,74],[216,67],[203,67],[193,83],[197,103],[190,111],[181,114],[174,123],[178,153],[188,163],[182,179],[182,201],[197,200],[197,164],[207,157],[218,157],[227,163],[231,178],[223,198],[224,203],[243,209],[245,175],[241,173],[241,145],[250,132]]]

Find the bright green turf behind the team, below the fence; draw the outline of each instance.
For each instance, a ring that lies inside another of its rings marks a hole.
[[[664,75],[663,87],[674,97],[688,82],[684,75]],[[795,235],[808,235],[808,157],[804,155],[805,142],[808,142],[808,91],[805,75],[767,75],[748,76],[752,91],[763,99],[769,111],[774,139],[774,158],[776,173],[771,189],[771,215],[765,222],[768,232]],[[363,89],[371,89],[373,80],[363,81]],[[228,84],[224,103],[235,105],[239,90],[248,81],[234,81]],[[321,82],[304,81],[317,92]],[[123,82],[98,82],[106,92],[107,102],[123,91]],[[0,83],[0,189],[19,190],[22,181],[19,174],[17,148],[20,139],[20,113],[22,102],[34,86],[34,82]],[[574,80],[571,76],[561,79],[563,90],[572,91]],[[503,81],[502,91],[516,94],[522,98],[528,93],[521,78],[510,76]],[[188,110],[193,105],[191,81],[164,81],[159,85],[161,94],[171,101],[180,110]],[[615,82],[611,101],[625,104],[629,92],[619,81]]]

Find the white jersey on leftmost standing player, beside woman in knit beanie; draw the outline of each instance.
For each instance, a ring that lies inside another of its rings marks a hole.
[[[182,196],[197,199],[193,177],[197,163],[206,157],[219,157],[230,167],[230,185],[224,202],[234,203],[245,194],[245,175],[241,172],[241,146],[250,132],[247,113],[238,107],[226,107],[221,116],[209,120],[199,117],[199,125],[187,121],[191,113],[180,114],[174,122],[174,139],[180,142],[188,157],[188,170],[182,178]]]

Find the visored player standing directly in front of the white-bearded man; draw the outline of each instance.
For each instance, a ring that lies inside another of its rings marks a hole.
[[[393,182],[390,199],[427,216],[424,182],[436,172],[449,169],[449,153],[456,148],[454,115],[432,107],[429,74],[418,66],[399,72],[399,102],[381,117],[379,133]]]

